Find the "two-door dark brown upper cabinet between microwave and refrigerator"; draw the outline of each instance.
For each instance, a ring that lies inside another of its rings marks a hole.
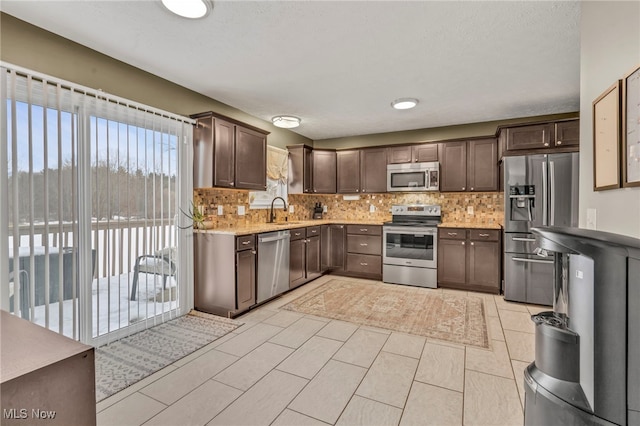
[[[443,142],[439,146],[440,192],[498,190],[495,138]]]

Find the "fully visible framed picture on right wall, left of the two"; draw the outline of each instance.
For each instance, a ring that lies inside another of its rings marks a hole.
[[[593,190],[620,188],[620,80],[593,101]]]

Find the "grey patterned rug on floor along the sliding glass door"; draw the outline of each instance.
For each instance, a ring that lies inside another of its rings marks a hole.
[[[243,323],[191,312],[96,349],[96,402],[235,330]]]

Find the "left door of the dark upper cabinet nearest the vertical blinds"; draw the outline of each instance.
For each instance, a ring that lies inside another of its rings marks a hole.
[[[236,126],[218,118],[214,121],[213,185],[235,187]]]

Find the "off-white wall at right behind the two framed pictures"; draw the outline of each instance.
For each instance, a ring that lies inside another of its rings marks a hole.
[[[640,187],[593,191],[592,102],[640,64],[640,2],[582,2],[580,38],[580,227],[640,238]]]

